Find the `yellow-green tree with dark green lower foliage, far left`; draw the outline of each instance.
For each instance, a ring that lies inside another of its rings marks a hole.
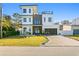
[[[3,37],[12,36],[18,34],[11,22],[12,18],[9,15],[4,15],[2,19],[2,32]]]

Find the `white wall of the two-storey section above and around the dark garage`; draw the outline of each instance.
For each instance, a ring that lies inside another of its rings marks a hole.
[[[52,21],[49,22],[48,18],[51,17]],[[44,21],[44,18],[46,18],[46,20]],[[59,34],[59,25],[55,25],[53,22],[53,14],[42,14],[42,31],[45,30],[45,28],[56,28],[57,29],[57,34]]]

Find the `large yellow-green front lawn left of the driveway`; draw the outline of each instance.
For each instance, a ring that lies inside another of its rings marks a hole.
[[[10,37],[0,39],[0,46],[40,46],[47,41],[45,36]]]

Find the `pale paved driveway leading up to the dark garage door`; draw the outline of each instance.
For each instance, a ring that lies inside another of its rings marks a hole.
[[[47,36],[49,39],[45,46],[79,46],[79,41],[64,36]]]

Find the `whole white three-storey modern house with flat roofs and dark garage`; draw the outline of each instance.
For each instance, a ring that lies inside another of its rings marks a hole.
[[[30,34],[59,34],[59,25],[53,23],[53,12],[38,13],[37,5],[21,5],[20,28],[21,35]]]

